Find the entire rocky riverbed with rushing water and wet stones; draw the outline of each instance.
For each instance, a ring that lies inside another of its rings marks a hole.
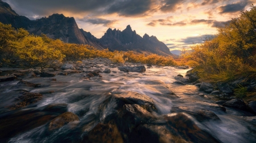
[[[104,58],[0,68],[0,142],[256,142],[255,104],[188,70]]]

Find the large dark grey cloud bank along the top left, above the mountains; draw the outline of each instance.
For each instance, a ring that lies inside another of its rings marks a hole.
[[[53,13],[69,13],[70,15],[118,14],[121,16],[146,15],[154,10],[158,0],[3,0],[11,5],[19,15],[32,17],[48,16]]]

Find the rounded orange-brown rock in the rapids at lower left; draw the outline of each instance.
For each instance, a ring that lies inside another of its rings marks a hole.
[[[79,121],[79,117],[72,112],[64,112],[63,114],[57,116],[49,123],[48,130],[53,131],[55,129],[63,127],[63,125],[69,122]]]

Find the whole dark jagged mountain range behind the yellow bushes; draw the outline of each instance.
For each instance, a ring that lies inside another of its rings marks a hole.
[[[102,50],[133,50],[138,53],[155,53],[159,55],[172,55],[170,49],[155,36],[144,34],[139,36],[132,31],[130,25],[126,29],[112,30],[109,28],[101,38],[94,37],[90,32],[79,29],[74,18],[67,18],[63,14],[53,14],[48,18],[30,20],[20,16],[6,2],[0,0],[0,22],[11,24],[14,28],[25,28],[33,34],[44,33],[53,39],[60,39],[67,43],[88,44]]]

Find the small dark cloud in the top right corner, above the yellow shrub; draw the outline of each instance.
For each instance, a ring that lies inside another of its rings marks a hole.
[[[228,4],[225,6],[220,6],[218,7],[218,10],[220,10],[220,14],[225,14],[225,13],[233,13],[233,12],[238,12],[242,11],[245,9],[247,5],[249,5],[250,1],[245,0],[245,1],[238,1],[236,3]]]

